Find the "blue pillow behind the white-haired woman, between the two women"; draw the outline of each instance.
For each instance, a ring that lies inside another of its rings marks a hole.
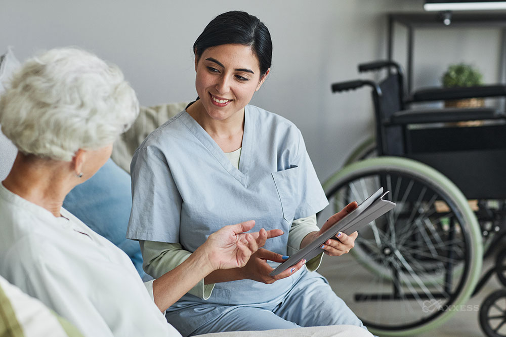
[[[123,250],[143,279],[149,277],[142,270],[139,242],[125,238],[132,208],[130,175],[112,159],[92,178],[74,187],[63,207]]]

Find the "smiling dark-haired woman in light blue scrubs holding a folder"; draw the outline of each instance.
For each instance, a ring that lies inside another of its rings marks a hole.
[[[257,226],[284,234],[245,267],[206,276],[167,310],[168,322],[184,336],[363,326],[325,278],[301,269],[305,261],[278,277],[268,275],[282,256],[320,234],[315,214],[327,205],[299,129],[248,105],[270,71],[268,29],[245,12],[224,13],[205,27],[193,49],[198,98],[137,149],[127,237],[141,240],[144,269],[157,277],[191,257],[223,224],[255,219]],[[348,252],[357,233],[338,236],[324,245],[328,255]],[[315,270],[320,259],[307,269]]]

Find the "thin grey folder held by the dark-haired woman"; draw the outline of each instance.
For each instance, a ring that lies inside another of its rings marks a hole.
[[[374,221],[376,218],[387,213],[389,210],[395,207],[394,202],[383,199],[387,193],[388,191],[383,193],[383,187],[379,188],[371,196],[361,202],[357,208],[330,226],[325,232],[314,239],[313,242],[309,243],[307,246],[299,250],[296,254],[293,254],[291,257],[289,257],[285,262],[274,269],[269,275],[276,276],[294,264],[297,264],[302,259],[306,259],[306,261],[313,259],[322,251],[325,251],[320,248],[321,245],[324,244],[328,239],[335,237],[335,235],[339,232],[350,235],[371,221]]]

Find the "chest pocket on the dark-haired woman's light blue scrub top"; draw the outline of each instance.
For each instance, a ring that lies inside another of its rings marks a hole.
[[[283,219],[287,222],[293,220],[299,199],[299,171],[296,165],[291,165],[288,170],[272,173],[274,184],[281,201]]]

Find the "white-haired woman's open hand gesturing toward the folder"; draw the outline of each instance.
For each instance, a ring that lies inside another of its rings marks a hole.
[[[202,244],[207,252],[209,264],[217,269],[240,268],[246,265],[252,254],[265,244],[268,238],[283,234],[282,230],[274,229],[244,233],[255,226],[254,220],[240,224],[225,226],[209,235]]]

